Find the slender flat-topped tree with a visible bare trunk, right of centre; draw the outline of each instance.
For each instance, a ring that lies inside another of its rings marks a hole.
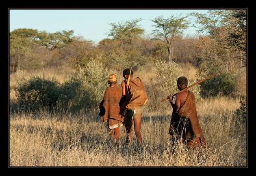
[[[167,19],[164,19],[163,16],[156,17],[153,21],[156,25],[152,25],[156,27],[156,30],[153,30],[153,34],[156,35],[156,38],[161,38],[167,42],[167,50],[169,55],[169,62],[172,61],[172,42],[174,37],[178,34],[182,34],[183,30],[187,29],[189,26],[189,22],[186,17],[181,17],[172,15]]]

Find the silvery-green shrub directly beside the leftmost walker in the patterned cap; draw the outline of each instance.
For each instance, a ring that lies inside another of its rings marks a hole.
[[[69,109],[97,109],[108,87],[108,76],[112,73],[117,74],[115,70],[104,68],[99,61],[90,61],[61,85],[60,106]]]

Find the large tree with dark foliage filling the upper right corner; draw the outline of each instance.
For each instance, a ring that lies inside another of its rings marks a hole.
[[[196,18],[197,26],[194,26],[198,28],[198,34],[208,34],[219,47],[236,53],[235,63],[240,62],[240,68],[246,66],[247,11],[245,9],[209,10],[206,14],[190,15]]]

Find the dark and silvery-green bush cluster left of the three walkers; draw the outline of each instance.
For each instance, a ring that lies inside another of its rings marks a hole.
[[[98,61],[91,61],[86,68],[69,76],[60,84],[55,78],[43,78],[20,72],[15,79],[15,95],[19,108],[63,108],[76,110],[97,108],[108,86],[108,76],[115,70],[108,70]]]

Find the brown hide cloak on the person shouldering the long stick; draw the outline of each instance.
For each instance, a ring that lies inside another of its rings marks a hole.
[[[169,134],[182,137],[182,141],[190,148],[206,147],[202,128],[195,107],[195,95],[189,91],[187,98],[180,105],[178,112],[172,112]]]

